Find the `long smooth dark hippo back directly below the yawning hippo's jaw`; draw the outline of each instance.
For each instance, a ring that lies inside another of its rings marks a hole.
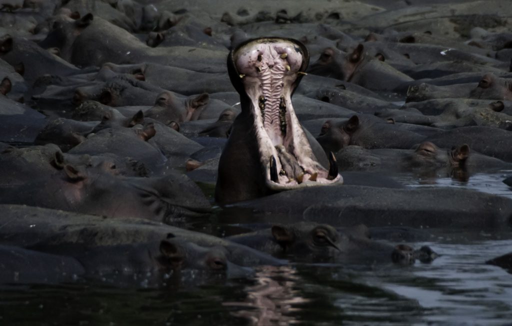
[[[232,206],[264,211],[265,214],[257,216],[269,216],[273,221],[300,220],[334,227],[362,223],[369,227],[496,230],[512,226],[511,199],[450,187],[393,189],[348,184],[306,187]]]

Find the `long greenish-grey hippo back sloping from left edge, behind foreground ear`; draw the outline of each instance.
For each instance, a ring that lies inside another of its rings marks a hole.
[[[220,237],[139,218],[111,219],[25,205],[0,205],[0,208],[4,212],[0,216],[2,225],[5,224],[5,227],[0,229],[0,240],[4,245],[55,255],[82,257],[83,264],[87,264],[90,267],[88,270],[93,273],[108,268],[109,264],[99,254],[98,259],[102,259],[104,264],[92,266],[95,255],[88,254],[88,251],[110,247],[113,250],[109,255],[113,261],[123,262],[124,260],[123,264],[127,265],[129,262],[126,262],[125,258],[115,255],[121,255],[119,252],[123,249],[133,250],[134,256],[147,254],[147,250],[140,249],[144,247],[149,249],[148,246],[153,246],[152,251],[157,256],[162,241],[184,249],[184,254],[188,255],[187,258],[196,254],[204,255],[210,250],[220,250],[222,252],[217,252],[215,255],[224,254],[229,262],[244,267],[280,266],[287,263],[286,260],[274,258]],[[137,246],[137,244],[142,244],[139,250],[127,247],[127,245]],[[96,250],[98,251],[100,250]],[[183,265],[186,264],[188,263],[184,262]],[[110,270],[114,269],[113,265],[110,265]]]

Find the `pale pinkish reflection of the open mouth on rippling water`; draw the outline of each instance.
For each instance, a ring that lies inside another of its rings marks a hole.
[[[240,307],[239,311],[231,314],[247,318],[253,325],[298,323],[289,313],[300,311],[296,305],[309,301],[294,290],[300,280],[296,270],[289,266],[263,266],[255,274],[257,284],[245,288],[245,302],[224,302],[223,305]]]

